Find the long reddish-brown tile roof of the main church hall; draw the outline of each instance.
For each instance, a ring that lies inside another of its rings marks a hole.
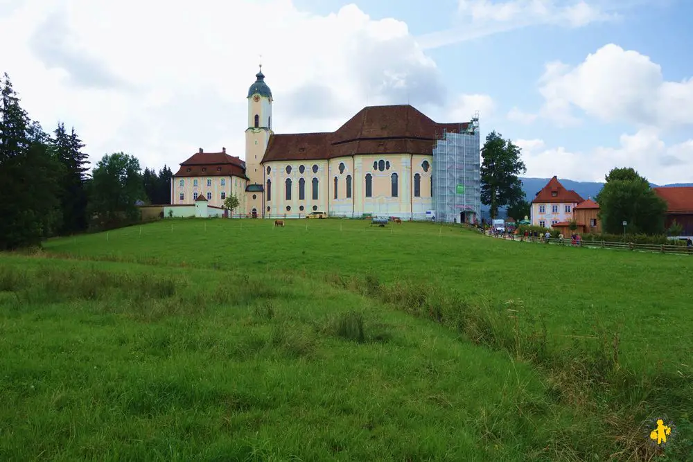
[[[272,134],[263,162],[332,159],[353,154],[432,154],[444,130],[467,123],[436,123],[411,105],[368,106],[336,132]]]

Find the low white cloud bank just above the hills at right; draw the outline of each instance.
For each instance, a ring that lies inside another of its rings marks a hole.
[[[548,148],[541,139],[514,141],[522,148],[527,175],[570,178],[577,181],[604,181],[611,168],[633,167],[656,184],[690,182],[693,170],[693,139],[668,145],[660,132],[643,128],[635,134],[622,134],[616,148],[595,148],[571,152],[562,146]]]

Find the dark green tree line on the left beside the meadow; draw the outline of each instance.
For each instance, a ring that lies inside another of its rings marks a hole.
[[[137,221],[139,201],[170,204],[170,168],[142,172],[137,157],[116,152],[89,172],[73,127],[58,122],[44,132],[21,107],[7,73],[0,89],[0,250]]]

